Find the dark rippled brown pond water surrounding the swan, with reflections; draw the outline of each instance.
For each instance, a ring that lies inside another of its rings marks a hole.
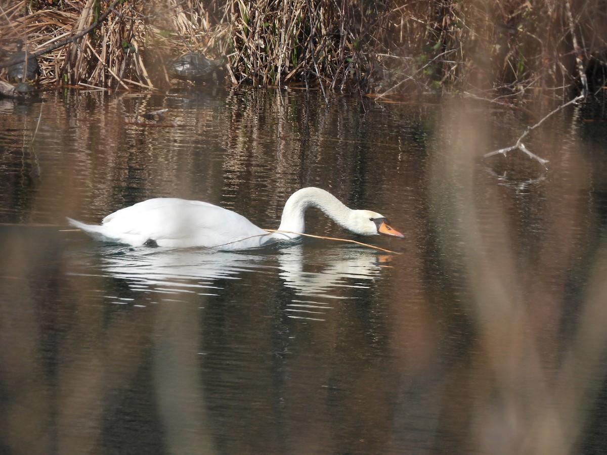
[[[0,103],[0,452],[607,447],[603,112],[205,87]],[[44,102],[42,102],[42,100]],[[146,114],[167,109],[162,118]],[[319,186],[390,218],[245,252],[67,231],[151,197],[276,228]]]

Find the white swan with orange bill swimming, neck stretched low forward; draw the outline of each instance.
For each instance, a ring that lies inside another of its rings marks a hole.
[[[348,231],[360,235],[404,237],[385,218],[368,210],[352,210],[327,191],[307,187],[294,192],[282,211],[279,231],[264,231],[242,215],[206,202],[177,198],[149,199],[107,215],[101,226],[67,218],[96,240],[141,246],[185,248],[205,246],[222,250],[258,248],[299,237],[305,229],[304,213],[317,207]]]

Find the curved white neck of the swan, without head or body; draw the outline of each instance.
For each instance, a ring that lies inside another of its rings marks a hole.
[[[282,211],[279,231],[305,232],[304,215],[308,207],[316,207],[333,219],[340,226],[345,227],[351,209],[324,189],[316,187],[302,188],[294,192]]]

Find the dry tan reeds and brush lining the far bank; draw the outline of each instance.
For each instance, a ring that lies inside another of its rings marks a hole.
[[[166,90],[188,52],[225,56],[226,84],[325,98],[571,99],[607,75],[597,0],[0,0],[0,38],[0,78],[21,45],[42,87]]]

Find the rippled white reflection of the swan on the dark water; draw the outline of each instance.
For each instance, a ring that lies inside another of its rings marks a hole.
[[[316,242],[312,242],[316,243]],[[220,295],[218,280],[270,281],[280,277],[293,290],[287,304],[291,317],[318,318],[335,299],[351,298],[344,288],[369,288],[381,275],[385,255],[362,247],[314,248],[294,244],[246,252],[203,248],[148,248],[106,244],[101,255],[103,275],[124,281],[130,291],[145,292],[137,302],[189,300],[192,295]],[[243,273],[249,272],[246,276]],[[112,295],[128,304],[132,292]]]

